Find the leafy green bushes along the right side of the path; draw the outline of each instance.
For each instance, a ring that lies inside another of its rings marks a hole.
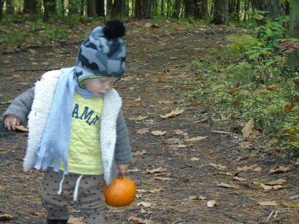
[[[213,50],[216,63],[194,62],[199,81],[185,82],[188,95],[233,127],[254,118],[266,143],[275,139],[289,155],[299,155],[299,74],[289,72],[288,52],[298,49],[278,19],[255,29],[254,35],[232,35],[223,50]],[[240,129],[239,129],[240,130]],[[241,134],[241,133],[240,133]]]

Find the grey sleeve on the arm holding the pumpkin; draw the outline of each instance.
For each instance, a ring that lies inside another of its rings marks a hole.
[[[120,110],[117,118],[117,137],[115,144],[115,161],[116,164],[126,164],[133,160],[131,146],[129,143],[128,129],[125,124],[123,112]]]

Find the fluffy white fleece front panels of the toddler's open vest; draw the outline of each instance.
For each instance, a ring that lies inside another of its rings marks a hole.
[[[34,166],[34,155],[42,139],[61,75],[60,70],[50,71],[42,75],[41,80],[35,83],[34,100],[28,115],[29,134],[23,162],[24,171],[29,171]],[[116,168],[113,167],[115,166],[116,122],[121,106],[121,97],[115,89],[104,95],[100,124],[100,143],[104,180],[108,186],[116,176]]]

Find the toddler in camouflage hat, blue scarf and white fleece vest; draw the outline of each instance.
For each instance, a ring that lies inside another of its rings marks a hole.
[[[85,224],[105,223],[104,187],[132,161],[121,97],[113,85],[126,67],[125,26],[110,20],[81,44],[75,67],[50,71],[3,114],[15,130],[28,116],[24,171],[45,170],[39,189],[47,224],[68,223],[68,203]],[[29,114],[29,115],[28,115]]]

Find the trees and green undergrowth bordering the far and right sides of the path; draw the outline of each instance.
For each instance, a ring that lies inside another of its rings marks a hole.
[[[75,26],[109,18],[250,30],[229,36],[228,46],[213,50],[213,61],[190,65],[200,75],[184,83],[188,97],[231,132],[299,156],[297,0],[0,0],[0,50],[34,38],[67,39]]]

